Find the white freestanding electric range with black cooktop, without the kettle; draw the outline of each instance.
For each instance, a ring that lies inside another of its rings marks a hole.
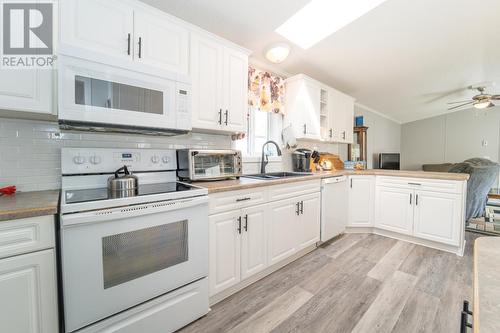
[[[137,190],[115,196],[123,166]],[[65,332],[172,332],[208,312],[208,193],[176,167],[175,150],[62,148]]]

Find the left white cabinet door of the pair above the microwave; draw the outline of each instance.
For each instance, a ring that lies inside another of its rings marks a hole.
[[[118,0],[69,0],[60,1],[59,6],[61,48],[69,46],[113,58],[132,59],[132,7]],[[79,53],[71,51],[74,55]]]

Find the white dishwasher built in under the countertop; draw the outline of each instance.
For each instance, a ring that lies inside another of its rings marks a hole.
[[[326,242],[344,232],[347,225],[347,177],[323,179],[321,182],[321,241]]]

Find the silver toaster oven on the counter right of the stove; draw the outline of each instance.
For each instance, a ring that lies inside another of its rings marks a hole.
[[[239,178],[242,172],[239,150],[177,150],[177,175],[182,180]]]

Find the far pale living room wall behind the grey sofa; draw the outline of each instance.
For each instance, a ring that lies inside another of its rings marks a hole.
[[[455,163],[472,157],[498,162],[500,107],[468,109],[406,123],[401,133],[405,169],[420,170],[422,164]]]

